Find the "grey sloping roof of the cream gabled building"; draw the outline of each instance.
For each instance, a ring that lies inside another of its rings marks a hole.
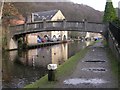
[[[58,10],[50,10],[44,12],[35,12],[32,13],[34,17],[34,21],[41,21],[41,20],[51,20],[52,17],[58,12]]]

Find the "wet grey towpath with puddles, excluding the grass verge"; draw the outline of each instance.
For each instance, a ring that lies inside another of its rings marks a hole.
[[[117,78],[112,74],[105,48],[98,42],[90,47],[73,74],[61,80],[57,87],[118,88],[117,82]]]

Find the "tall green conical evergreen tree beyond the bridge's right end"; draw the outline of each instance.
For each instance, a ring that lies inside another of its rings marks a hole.
[[[112,22],[114,19],[116,19],[116,11],[113,7],[112,0],[107,0],[104,16],[103,16],[103,22]]]

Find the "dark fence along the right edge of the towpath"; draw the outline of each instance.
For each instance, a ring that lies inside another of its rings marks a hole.
[[[120,61],[120,28],[110,23],[108,35],[109,47]]]

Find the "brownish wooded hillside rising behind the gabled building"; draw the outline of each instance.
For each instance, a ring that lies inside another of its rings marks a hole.
[[[17,2],[13,5],[26,17],[31,12],[60,9],[67,20],[83,20],[101,22],[103,12],[97,11],[89,6],[74,4],[72,2]]]

